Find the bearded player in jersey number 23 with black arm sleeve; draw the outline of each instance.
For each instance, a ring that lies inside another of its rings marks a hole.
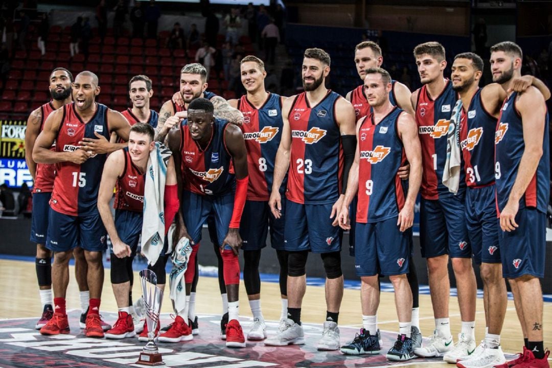
[[[301,303],[310,251],[320,253],[326,270],[326,322],[317,348],[339,348],[337,322],[343,274],[337,211],[354,160],[356,136],[353,106],[325,87],[328,73],[330,55],[321,49],[305,50],[301,72],[305,92],[286,99],[282,107],[284,127],[269,205],[274,217],[280,218],[280,185],[289,168],[284,232],[285,250],[289,252],[288,318],[266,345],[305,343]]]

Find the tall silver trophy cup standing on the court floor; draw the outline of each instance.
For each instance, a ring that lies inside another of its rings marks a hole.
[[[141,270],[140,281],[142,284],[142,293],[144,295],[144,305],[146,309],[147,326],[147,344],[140,353],[140,358],[136,364],[141,365],[163,365],[161,353],[157,345],[153,342],[155,329],[159,323],[159,313],[161,311],[161,302],[163,301],[163,290],[157,287],[157,276],[152,270]]]

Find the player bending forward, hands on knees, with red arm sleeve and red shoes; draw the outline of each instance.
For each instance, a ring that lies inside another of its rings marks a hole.
[[[187,233],[185,236],[194,249],[192,254],[197,254],[203,223],[211,212],[214,215],[228,293],[226,346],[244,348],[245,338],[237,319],[240,286],[238,249],[241,246],[238,230],[247,196],[247,150],[240,129],[226,120],[215,118],[213,114],[214,106],[210,100],[194,99],[188,106],[187,119],[178,129],[169,132],[168,144],[173,152],[179,188],[182,188],[179,191],[182,217]],[[231,164],[235,175],[231,172]],[[189,264],[193,264],[191,257]],[[193,267],[188,267],[184,279],[189,301]],[[160,335],[160,340],[166,337],[178,341],[185,337],[189,330],[185,321],[188,312],[182,314],[178,312],[171,328]]]

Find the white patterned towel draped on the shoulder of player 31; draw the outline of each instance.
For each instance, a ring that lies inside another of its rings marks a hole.
[[[460,153],[460,114],[462,111],[462,100],[458,100],[450,116],[449,129],[447,132],[447,161],[443,170],[443,184],[447,186],[450,193],[457,194],[460,186],[460,170],[462,169]]]

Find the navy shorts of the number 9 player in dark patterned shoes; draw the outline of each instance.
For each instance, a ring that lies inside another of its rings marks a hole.
[[[411,231],[401,232],[397,218],[370,223],[357,222],[354,268],[357,276],[408,273]]]

